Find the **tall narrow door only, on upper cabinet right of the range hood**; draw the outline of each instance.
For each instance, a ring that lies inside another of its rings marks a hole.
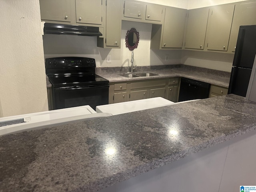
[[[121,1],[107,1],[106,46],[120,46],[121,40]]]

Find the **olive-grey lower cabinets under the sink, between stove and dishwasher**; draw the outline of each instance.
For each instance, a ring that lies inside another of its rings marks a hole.
[[[109,104],[162,97],[178,101],[179,78],[114,82],[109,86]]]

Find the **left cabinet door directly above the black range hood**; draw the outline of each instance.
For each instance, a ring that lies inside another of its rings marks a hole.
[[[71,0],[40,0],[41,20],[70,22]]]

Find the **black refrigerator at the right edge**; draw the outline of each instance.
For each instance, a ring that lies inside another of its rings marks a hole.
[[[245,97],[256,54],[256,25],[240,26],[228,94]]]

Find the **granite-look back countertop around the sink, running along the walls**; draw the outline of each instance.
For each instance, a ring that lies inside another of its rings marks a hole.
[[[219,70],[212,70],[207,68],[200,68],[187,65],[166,65],[166,66],[137,66],[136,71],[133,74],[139,72],[153,72],[159,74],[157,76],[150,77],[136,77],[126,78],[120,76],[120,74],[127,74],[128,67],[102,67],[96,68],[96,74],[109,80],[109,82],[125,82],[134,80],[146,80],[146,79],[158,79],[158,78],[171,78],[171,77],[186,77],[217,86],[228,88],[230,80],[230,72],[224,72]],[[47,87],[51,87],[51,83],[46,78]]]

